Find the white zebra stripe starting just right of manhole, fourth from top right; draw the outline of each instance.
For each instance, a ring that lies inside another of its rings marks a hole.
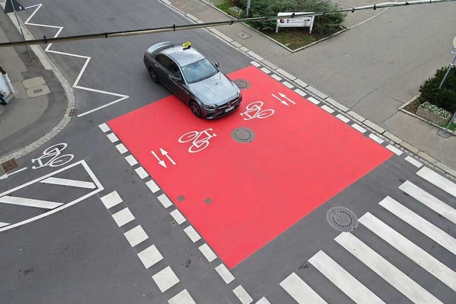
[[[448,285],[452,290],[456,290],[456,273],[439,260],[432,257],[432,255],[425,252],[425,250],[412,243],[378,218],[375,218],[371,213],[366,213],[364,216],[361,216],[358,221],[406,255],[410,260],[413,260],[430,274],[434,275],[435,278]]]

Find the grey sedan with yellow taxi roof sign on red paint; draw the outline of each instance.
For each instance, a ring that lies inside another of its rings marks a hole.
[[[197,117],[222,117],[241,104],[242,93],[236,84],[190,42],[154,44],[145,52],[144,64],[152,81],[162,83]]]

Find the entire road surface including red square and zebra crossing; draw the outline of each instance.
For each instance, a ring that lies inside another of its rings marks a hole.
[[[65,35],[187,22],[105,0],[44,1],[28,21]],[[157,41],[219,61],[242,106],[193,117],[150,81]],[[0,181],[2,303],[454,301],[455,183],[203,29],[50,50],[87,114]]]

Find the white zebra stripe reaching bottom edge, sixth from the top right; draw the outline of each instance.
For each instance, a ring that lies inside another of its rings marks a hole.
[[[322,250],[310,258],[309,262],[355,303],[385,303]]]

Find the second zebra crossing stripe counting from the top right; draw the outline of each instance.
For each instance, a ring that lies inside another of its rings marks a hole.
[[[405,181],[405,183],[399,186],[399,189],[456,224],[456,210],[446,203],[443,203],[438,198],[431,196],[423,189],[410,183],[410,181]]]

